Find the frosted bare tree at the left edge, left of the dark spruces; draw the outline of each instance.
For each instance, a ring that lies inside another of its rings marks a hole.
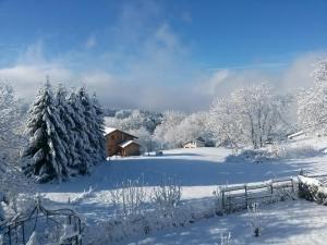
[[[1,204],[17,209],[20,193],[33,193],[21,172],[20,150],[24,143],[24,114],[11,86],[0,84],[0,220],[5,218]]]

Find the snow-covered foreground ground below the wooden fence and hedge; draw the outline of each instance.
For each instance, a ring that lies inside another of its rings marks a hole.
[[[254,237],[247,212],[215,217],[187,228],[159,232],[122,244],[220,245],[221,234],[231,232],[232,245],[324,245],[327,241],[327,207],[305,200],[268,205],[261,209],[262,234]]]

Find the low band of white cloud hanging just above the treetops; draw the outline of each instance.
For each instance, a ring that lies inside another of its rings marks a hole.
[[[172,38],[169,35],[165,36],[164,40],[167,37]],[[174,45],[172,45],[169,39],[168,42],[170,45],[165,46],[164,50],[174,50],[172,46],[178,46],[178,41],[173,41]],[[213,97],[226,96],[235,87],[252,83],[268,82],[282,93],[294,91],[312,85],[313,81],[310,76],[313,70],[312,63],[320,57],[319,53],[304,54],[295,59],[288,69],[275,74],[258,70],[221,70],[213,71],[209,74],[207,71],[205,74],[196,71],[187,83],[174,83],[173,81],[182,76],[179,75],[179,68],[174,68],[177,65],[177,61],[173,60],[174,56],[166,57],[168,51],[165,52],[161,50],[162,47],[158,48],[156,45],[150,45],[150,49],[157,49],[159,53],[152,56],[148,52],[138,63],[131,63],[126,75],[95,69],[73,71],[64,64],[46,61],[41,48],[39,48],[41,46],[35,47],[34,49],[28,48],[16,65],[0,69],[0,81],[11,83],[21,97],[32,100],[40,83],[49,75],[55,85],[63,83],[69,87],[86,86],[90,93],[96,91],[100,101],[106,106],[152,110],[194,111],[206,109]],[[31,61],[34,60],[33,56],[37,60],[35,64],[31,64]],[[149,61],[148,64],[146,60]],[[178,62],[182,61],[183,59]],[[183,74],[183,71],[181,73]],[[175,77],[169,77],[173,75]],[[166,83],[166,79],[169,82]]]

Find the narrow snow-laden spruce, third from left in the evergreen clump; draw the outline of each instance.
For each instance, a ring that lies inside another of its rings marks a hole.
[[[89,149],[89,138],[88,131],[89,126],[85,120],[84,106],[82,103],[82,97],[76,91],[71,91],[69,96],[69,105],[72,107],[74,114],[72,119],[74,120],[75,127],[73,130],[75,138],[75,159],[74,167],[77,168],[80,174],[86,174],[89,172],[89,168],[93,166],[93,159]]]

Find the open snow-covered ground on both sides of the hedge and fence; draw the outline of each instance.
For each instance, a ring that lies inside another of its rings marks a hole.
[[[112,218],[114,207],[110,192],[126,180],[144,179],[146,192],[160,184],[162,174],[175,177],[182,186],[182,204],[193,208],[213,203],[213,192],[221,184],[266,181],[295,176],[303,169],[327,173],[326,143],[319,139],[292,140],[278,150],[278,158],[253,161],[233,156],[226,148],[174,149],[164,156],[112,158],[95,168],[89,176],[73,179],[60,185],[46,184],[40,193],[59,206],[70,206],[90,225]],[[88,192],[92,189],[92,192]],[[86,192],[84,192],[86,191]],[[70,203],[70,204],[69,204]],[[204,219],[178,230],[168,229],[148,237],[131,237],[131,244],[219,244],[221,232],[232,232],[232,244],[324,244],[318,235],[327,224],[319,216],[326,207],[306,201],[288,201],[263,207],[266,222],[263,236],[255,240],[249,231],[246,212]],[[305,242],[306,241],[306,242]],[[308,243],[308,241],[313,241]],[[126,241],[120,244],[125,244]]]

